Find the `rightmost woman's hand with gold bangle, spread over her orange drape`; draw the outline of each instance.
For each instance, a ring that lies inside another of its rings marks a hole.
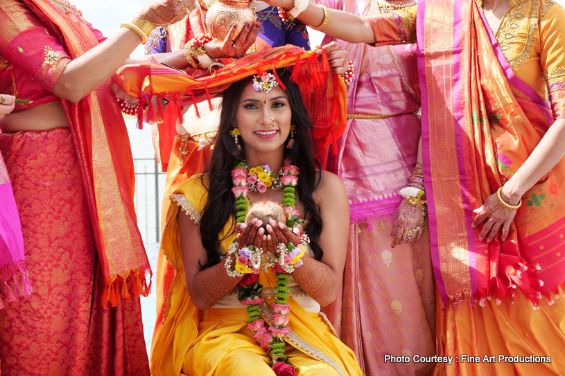
[[[503,195],[503,193],[501,193]],[[502,197],[505,199],[505,197]],[[475,218],[471,224],[471,228],[474,229],[480,224],[483,224],[483,229],[478,235],[479,242],[487,240],[490,243],[494,240],[494,237],[502,229],[501,240],[504,242],[508,238],[508,233],[510,232],[510,226],[512,221],[516,216],[516,211],[504,208],[496,198],[496,193],[490,195],[485,200],[485,204],[478,209],[475,209],[475,213],[478,216]]]

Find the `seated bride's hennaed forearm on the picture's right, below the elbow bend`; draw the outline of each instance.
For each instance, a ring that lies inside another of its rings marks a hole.
[[[302,262],[304,264],[291,274],[298,285],[322,307],[335,301],[339,287],[331,267],[307,254],[302,256]]]

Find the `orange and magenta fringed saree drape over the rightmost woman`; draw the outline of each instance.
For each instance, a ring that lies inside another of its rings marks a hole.
[[[422,151],[435,276],[444,305],[514,296],[534,307],[564,286],[565,161],[526,193],[509,238],[479,242],[473,210],[512,177],[553,123],[516,78],[475,1],[417,11]]]

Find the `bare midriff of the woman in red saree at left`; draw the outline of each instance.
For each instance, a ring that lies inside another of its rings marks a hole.
[[[47,131],[68,127],[69,123],[61,102],[49,103],[49,105],[30,109],[20,109],[0,119],[0,132],[2,133]]]

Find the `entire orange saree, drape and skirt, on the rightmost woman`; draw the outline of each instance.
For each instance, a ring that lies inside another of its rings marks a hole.
[[[552,5],[526,0],[518,10],[532,17]],[[510,6],[510,14],[518,11]],[[479,242],[480,228],[470,226],[473,210],[563,114],[552,114],[516,77],[475,1],[420,3],[417,35],[424,179],[437,301],[444,305],[437,305],[437,350],[453,357],[435,374],[563,375],[565,159],[526,193],[505,242]],[[544,69],[560,48],[552,51],[546,37],[541,33]]]

